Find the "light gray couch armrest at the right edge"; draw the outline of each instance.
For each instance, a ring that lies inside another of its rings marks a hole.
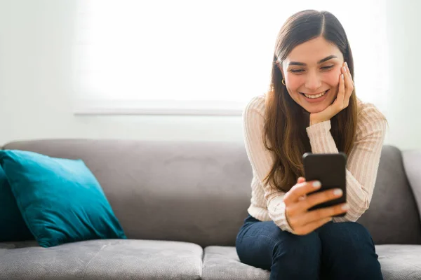
[[[421,216],[421,151],[403,151],[402,159]]]

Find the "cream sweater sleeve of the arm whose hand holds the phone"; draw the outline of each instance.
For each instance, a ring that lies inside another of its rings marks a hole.
[[[269,174],[274,164],[274,155],[265,148],[263,142],[265,126],[263,105],[262,102],[256,102],[256,99],[253,99],[243,111],[243,132],[246,152],[253,168],[253,173],[264,190],[269,218],[281,230],[293,233],[285,216],[285,203],[283,202],[285,193],[272,188],[269,183],[263,183],[263,179]]]

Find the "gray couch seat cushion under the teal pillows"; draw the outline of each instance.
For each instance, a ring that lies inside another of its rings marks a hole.
[[[203,250],[173,241],[100,239],[42,248],[0,243],[0,279],[200,279]]]

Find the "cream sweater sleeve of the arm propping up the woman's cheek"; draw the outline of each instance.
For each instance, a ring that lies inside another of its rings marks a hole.
[[[368,105],[359,113],[356,141],[348,155],[346,182],[349,210],[334,222],[356,221],[368,209],[373,195],[377,169],[385,139],[386,120],[384,116]],[[312,153],[338,153],[330,134],[330,120],[307,127]]]

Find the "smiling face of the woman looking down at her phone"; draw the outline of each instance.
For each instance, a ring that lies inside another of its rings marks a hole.
[[[343,62],[339,48],[321,36],[297,45],[281,67],[290,97],[309,113],[323,111],[338,94]]]

